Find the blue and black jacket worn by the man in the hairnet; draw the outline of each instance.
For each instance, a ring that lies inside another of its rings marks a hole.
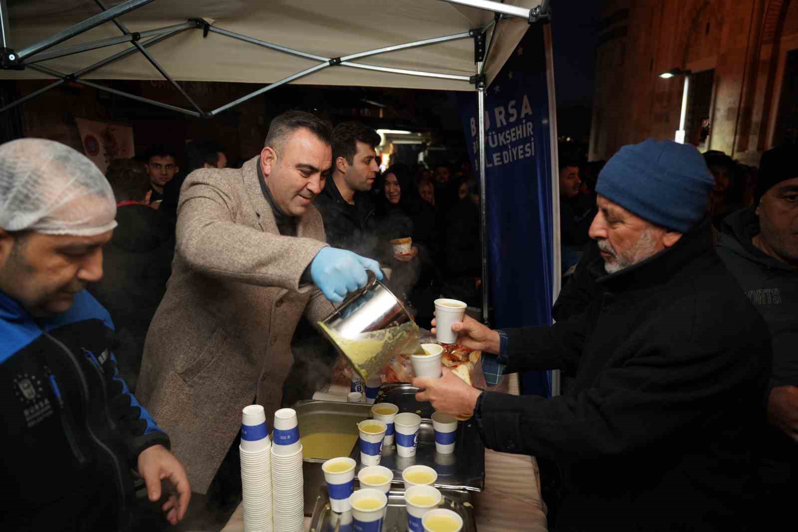
[[[117,372],[112,329],[85,290],[46,319],[0,292],[3,530],[124,528],[129,468],[169,447]]]

